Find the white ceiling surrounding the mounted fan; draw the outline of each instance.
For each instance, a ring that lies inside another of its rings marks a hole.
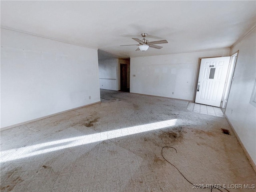
[[[256,23],[256,1],[1,1],[1,27],[135,57],[232,46]],[[166,39],[135,51],[132,38]],[[108,55],[109,56],[109,55]]]

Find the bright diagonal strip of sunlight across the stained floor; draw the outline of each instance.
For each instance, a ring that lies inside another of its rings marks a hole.
[[[35,144],[35,145],[11,149],[11,150],[5,150],[5,151],[1,151],[1,162],[8,162],[12,160],[27,158],[31,156],[48,153],[48,152],[80,146],[84,144],[90,144],[90,143],[100,142],[108,139],[124,137],[132,134],[138,134],[138,133],[157,130],[161,128],[167,128],[170,126],[174,126],[176,124],[176,121],[177,119],[166,120],[166,121],[155,122],[150,124],[143,124],[139,126],[132,126],[128,128],[121,128],[117,130],[99,132],[99,133],[94,133],[94,134],[89,134],[84,136],[50,141],[42,144]],[[60,146],[56,146],[56,145],[60,145]],[[48,148],[40,150],[40,148],[44,148],[44,147],[48,147]]]

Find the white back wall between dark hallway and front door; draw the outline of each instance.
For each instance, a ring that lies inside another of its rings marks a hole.
[[[193,100],[198,58],[229,56],[229,52],[227,48],[130,58],[130,92]]]

